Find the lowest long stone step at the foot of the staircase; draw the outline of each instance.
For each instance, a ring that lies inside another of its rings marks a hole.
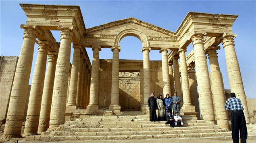
[[[182,133],[182,134],[156,134],[156,135],[97,135],[97,136],[79,136],[79,135],[63,135],[63,136],[27,136],[27,141],[47,140],[47,141],[64,141],[64,140],[125,140],[125,139],[168,139],[168,138],[184,138],[184,137],[225,137],[230,136],[231,132],[214,132],[214,133]]]

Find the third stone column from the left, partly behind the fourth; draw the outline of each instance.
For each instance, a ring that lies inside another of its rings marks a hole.
[[[44,91],[42,95],[39,126],[37,131],[38,134],[41,134],[42,132],[46,131],[49,127],[56,61],[56,52],[48,52],[48,66],[44,81]]]

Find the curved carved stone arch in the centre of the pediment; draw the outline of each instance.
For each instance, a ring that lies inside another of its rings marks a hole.
[[[141,32],[137,29],[134,29],[134,28],[125,29],[125,30],[119,32],[119,34],[117,34],[117,36],[115,37],[114,45],[119,46],[120,41],[126,36],[135,36],[140,41],[142,41],[143,47],[149,46],[148,38],[147,38],[146,34],[144,34],[143,32]]]

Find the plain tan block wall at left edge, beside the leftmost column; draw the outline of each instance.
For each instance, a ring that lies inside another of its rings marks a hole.
[[[17,56],[0,56],[0,120],[6,119],[18,59]]]

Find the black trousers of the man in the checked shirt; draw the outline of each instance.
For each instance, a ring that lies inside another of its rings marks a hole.
[[[239,143],[239,131],[241,143],[246,143],[247,127],[243,111],[231,112],[232,139],[234,143]]]

